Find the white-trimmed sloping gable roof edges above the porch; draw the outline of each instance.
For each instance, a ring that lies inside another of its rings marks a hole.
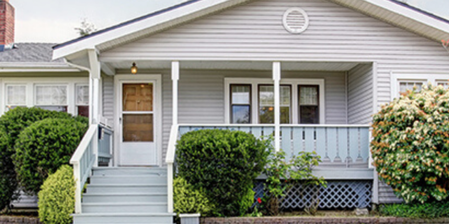
[[[85,49],[105,51],[253,0],[188,0],[53,47],[53,58]],[[328,0],[434,41],[449,37],[449,21],[397,0]]]

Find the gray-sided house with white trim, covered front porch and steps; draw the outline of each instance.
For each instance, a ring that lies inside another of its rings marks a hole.
[[[316,151],[321,208],[397,202],[371,166],[371,115],[449,86],[448,38],[447,20],[396,0],[189,0],[59,44],[54,59],[89,73],[74,222],[172,223],[175,143],[202,128]]]

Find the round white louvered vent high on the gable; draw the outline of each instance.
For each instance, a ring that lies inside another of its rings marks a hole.
[[[290,33],[302,33],[309,26],[309,16],[302,8],[289,8],[282,18],[284,28]]]

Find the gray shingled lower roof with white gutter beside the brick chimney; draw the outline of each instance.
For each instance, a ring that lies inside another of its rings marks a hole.
[[[54,43],[15,43],[0,52],[0,72],[79,71],[69,67],[63,58],[52,59]]]

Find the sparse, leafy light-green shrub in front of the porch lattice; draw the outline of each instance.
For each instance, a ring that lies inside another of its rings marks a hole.
[[[298,181],[302,181],[304,185],[313,184],[326,187],[323,177],[316,177],[312,174],[312,168],[319,162],[321,162],[321,157],[316,152],[299,152],[289,161],[285,159],[283,150],[270,154],[264,170],[267,176],[265,187],[269,193],[269,198],[265,199],[266,212],[273,216],[279,215],[282,200]],[[318,195],[315,200],[318,200]],[[310,211],[310,208],[306,209]]]

